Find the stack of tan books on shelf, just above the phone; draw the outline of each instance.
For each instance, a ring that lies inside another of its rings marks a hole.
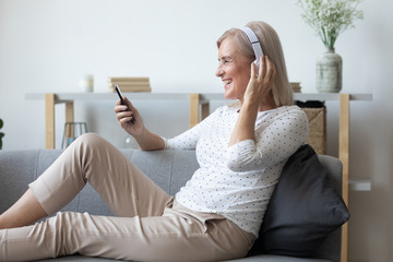
[[[152,92],[148,78],[108,78],[111,92],[115,92],[115,85],[122,92]]]

